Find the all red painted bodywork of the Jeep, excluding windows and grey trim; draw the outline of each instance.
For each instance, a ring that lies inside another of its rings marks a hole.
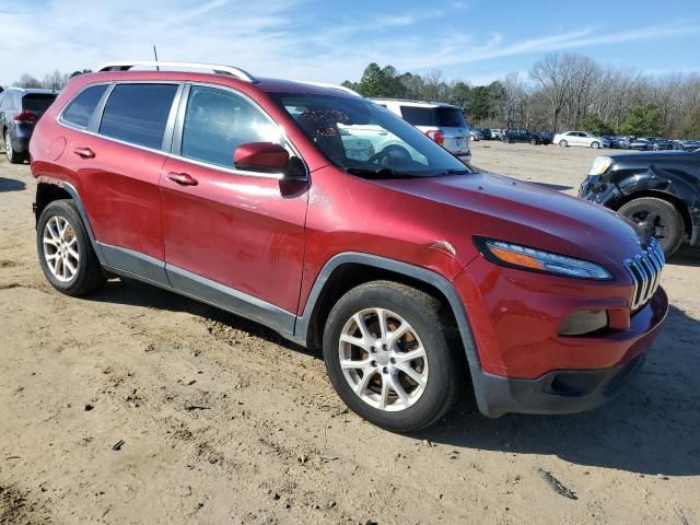
[[[310,171],[307,182],[232,173],[68,129],[58,113],[88,83],[189,81],[238,90],[277,121]],[[155,257],[298,315],[326,262],[360,252],[419,266],[462,298],[485,372],[535,378],[559,369],[628,362],[654,339],[663,290],[630,318],[632,280],[622,260],[639,253],[634,228],[615,213],[537,185],[474,174],[365,180],[334,166],[269,92],[334,92],[221,74],[128,71],[73,79],[37,124],[37,177],[68,182],[82,197],[98,241]],[[337,94],[337,93],[335,93]],[[65,141],[65,147],[63,147]],[[73,153],[90,148],[94,159]],[[62,151],[61,151],[62,150]],[[167,173],[187,173],[182,186]],[[611,281],[584,281],[495,266],[481,235],[605,266]],[[575,310],[607,310],[604,337],[559,337]]]

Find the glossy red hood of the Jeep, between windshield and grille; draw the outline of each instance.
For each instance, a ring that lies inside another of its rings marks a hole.
[[[642,232],[602,206],[503,175],[476,173],[378,184],[464,210],[464,231],[603,264],[620,275]]]

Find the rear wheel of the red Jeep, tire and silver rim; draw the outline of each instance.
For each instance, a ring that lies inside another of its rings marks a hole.
[[[36,247],[49,283],[67,295],[84,295],[105,281],[83,221],[72,200],[55,200],[42,212]]]

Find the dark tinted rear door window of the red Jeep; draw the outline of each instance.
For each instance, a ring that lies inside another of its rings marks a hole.
[[[176,91],[175,84],[117,85],[105,104],[100,133],[160,149]]]

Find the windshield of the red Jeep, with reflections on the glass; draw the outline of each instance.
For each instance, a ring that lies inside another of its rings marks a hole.
[[[371,178],[474,173],[388,109],[364,98],[271,93],[324,155],[338,167]]]

